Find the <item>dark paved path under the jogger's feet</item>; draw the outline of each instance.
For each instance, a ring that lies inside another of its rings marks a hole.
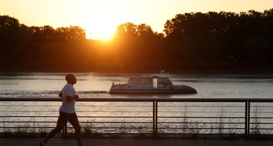
[[[0,139],[0,146],[37,146],[37,140]],[[78,146],[75,140],[50,140],[47,146]],[[273,146],[273,141],[83,140],[83,146]]]

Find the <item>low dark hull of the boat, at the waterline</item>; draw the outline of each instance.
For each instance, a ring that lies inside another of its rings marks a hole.
[[[196,94],[197,91],[183,89],[111,89],[110,94]]]

